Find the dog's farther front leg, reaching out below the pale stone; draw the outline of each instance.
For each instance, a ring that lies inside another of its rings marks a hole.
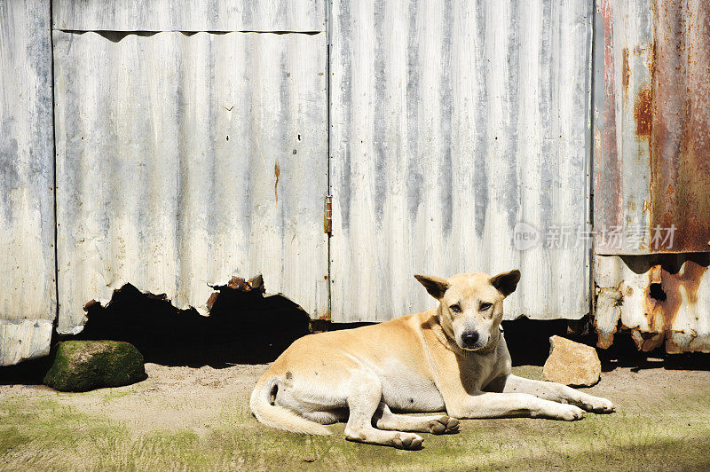
[[[553,402],[577,405],[588,412],[612,413],[616,410],[614,404],[606,398],[595,397],[561,383],[533,381],[512,374],[501,377],[501,379],[497,379],[496,382],[492,383],[493,386],[498,384],[494,391],[526,393]]]

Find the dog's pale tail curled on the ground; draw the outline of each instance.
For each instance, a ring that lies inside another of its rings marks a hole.
[[[288,408],[276,405],[274,400],[279,389],[279,383],[279,379],[276,377],[262,377],[259,382],[256,382],[256,387],[251,392],[251,400],[249,401],[251,412],[256,416],[256,420],[271,428],[284,429],[293,433],[317,436],[332,434],[322,424],[306,420],[303,416],[299,416]]]

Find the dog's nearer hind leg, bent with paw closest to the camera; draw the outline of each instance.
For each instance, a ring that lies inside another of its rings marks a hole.
[[[372,425],[373,416],[383,396],[382,382],[374,373],[359,370],[351,377],[348,390],[350,416],[345,426],[345,437],[348,440],[391,445],[398,449],[419,449],[422,446],[422,437],[414,433],[383,431]]]

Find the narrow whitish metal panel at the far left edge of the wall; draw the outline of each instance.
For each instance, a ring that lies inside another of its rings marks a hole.
[[[0,366],[46,355],[56,314],[50,8],[0,2]]]

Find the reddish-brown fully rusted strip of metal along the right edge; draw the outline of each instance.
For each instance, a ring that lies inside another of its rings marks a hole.
[[[710,2],[654,3],[650,226],[675,226],[672,247],[710,238]],[[638,124],[638,122],[637,122]]]

